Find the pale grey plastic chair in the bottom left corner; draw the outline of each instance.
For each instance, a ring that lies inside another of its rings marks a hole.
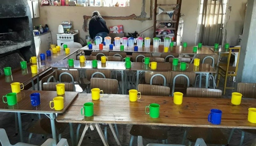
[[[36,146],[34,144],[18,142],[12,145],[8,139],[8,136],[3,128],[0,128],[0,143],[2,146]],[[47,139],[41,146],[56,146],[56,141],[52,138]],[[62,146],[62,145],[59,145]]]

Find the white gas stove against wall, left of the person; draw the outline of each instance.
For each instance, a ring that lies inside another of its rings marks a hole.
[[[57,34],[57,45],[61,46],[65,42],[78,42],[78,33]]]

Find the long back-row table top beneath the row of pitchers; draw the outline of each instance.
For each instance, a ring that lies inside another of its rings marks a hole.
[[[81,50],[89,50],[88,46],[84,46]],[[109,50],[108,46],[103,46],[103,50],[99,50],[99,47],[96,45],[92,45],[92,50],[94,51],[120,51],[120,47],[113,47],[113,50]],[[134,48],[126,47],[123,52],[135,52]],[[184,48],[183,46],[173,46],[169,48],[169,53],[179,53],[179,54],[216,54],[209,50],[208,47],[203,46],[202,48],[198,48],[197,52],[193,52],[193,46],[188,46]],[[164,53],[164,46],[159,45],[158,48],[153,48],[153,45],[150,45],[149,48],[138,48],[136,53]]]

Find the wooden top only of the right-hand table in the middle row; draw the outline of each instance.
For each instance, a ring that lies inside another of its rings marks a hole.
[[[131,70],[143,70],[143,71],[181,71],[181,72],[195,72],[195,73],[216,73],[216,70],[210,64],[200,64],[194,66],[194,64],[188,64],[188,68],[185,71],[180,70],[180,65],[173,66],[172,63],[157,63],[156,70],[152,70],[149,65],[145,65],[142,62],[132,62]]]

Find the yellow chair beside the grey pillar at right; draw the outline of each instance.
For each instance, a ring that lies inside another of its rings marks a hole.
[[[233,49],[234,49],[234,51],[238,52],[236,66],[230,66],[230,64],[229,64],[231,54],[233,53],[232,52]],[[239,56],[240,56],[240,49],[241,49],[241,47],[229,48],[227,65],[225,65],[225,66],[224,65],[223,66],[219,65],[218,66],[219,71],[218,71],[217,87],[219,87],[220,76],[225,79],[223,95],[225,95],[226,89],[234,89],[234,87],[227,87],[227,80],[228,80],[228,77],[236,77],[236,75],[237,75]]]

